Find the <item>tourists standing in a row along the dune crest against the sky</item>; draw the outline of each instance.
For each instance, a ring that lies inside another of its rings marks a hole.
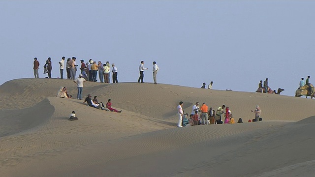
[[[66,74],[67,74],[67,79],[76,79],[76,73],[79,68],[79,65],[76,62],[76,57],[68,58],[66,62],[64,61],[65,57],[62,57],[62,59],[58,62],[59,63],[59,68],[60,68],[60,79],[63,79],[63,70],[64,70],[64,64],[65,64],[65,69],[66,69]],[[34,77],[38,78],[38,69],[39,69],[39,61],[37,58],[34,58],[33,62],[33,71],[34,71]],[[117,67],[115,66],[114,63],[110,64],[109,61],[106,61],[105,64],[103,64],[101,61],[93,61],[93,59],[89,59],[89,62],[84,62],[84,59],[80,60],[80,74],[82,74],[82,78],[84,78],[86,81],[91,81],[91,82],[96,82],[97,81],[97,75],[99,82],[101,83],[110,83],[110,73],[112,73],[112,82],[113,83],[118,83],[117,79]],[[138,79],[138,83],[144,83],[143,78],[144,78],[144,70],[147,70],[148,68],[144,67],[144,61],[140,62],[139,65],[139,72],[140,76]],[[156,61],[153,61],[153,81],[154,84],[157,83],[157,74],[158,74],[158,65]],[[46,78],[51,78],[51,71],[52,71],[52,61],[51,58],[49,57],[46,60],[46,63],[44,65],[44,74],[48,74],[48,77]],[[98,74],[97,74],[98,73]]]

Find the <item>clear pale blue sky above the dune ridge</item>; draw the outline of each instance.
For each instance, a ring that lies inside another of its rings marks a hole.
[[[315,83],[312,0],[0,0],[0,84],[32,78],[32,62],[62,56],[115,63],[120,82],[145,82],[294,95],[301,77]]]

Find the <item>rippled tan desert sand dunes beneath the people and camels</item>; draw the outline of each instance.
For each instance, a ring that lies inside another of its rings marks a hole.
[[[66,86],[73,98],[57,98]],[[76,99],[61,79],[0,86],[0,177],[313,177],[315,100],[152,83],[86,82],[83,95],[112,99],[122,113]],[[176,127],[179,101],[244,123]],[[250,122],[259,105],[263,121]],[[72,111],[79,120],[69,121]]]

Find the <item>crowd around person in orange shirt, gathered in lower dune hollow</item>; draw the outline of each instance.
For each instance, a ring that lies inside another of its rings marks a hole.
[[[231,110],[229,107],[222,105],[218,107],[217,112],[208,106],[206,103],[202,103],[202,106],[199,107],[199,102],[196,102],[195,105],[192,106],[192,110],[190,115],[188,113],[184,114],[183,110],[183,101],[179,102],[177,106],[178,111],[178,123],[177,127],[183,126],[193,126],[193,125],[208,125],[208,124],[222,124],[222,123],[235,123],[235,119],[231,114]],[[257,105],[256,109],[251,112],[255,113],[255,118],[250,119],[250,121],[261,121],[262,118],[260,117],[261,110],[260,107]],[[188,118],[189,116],[189,118]],[[237,123],[243,123],[242,118],[239,118]]]

